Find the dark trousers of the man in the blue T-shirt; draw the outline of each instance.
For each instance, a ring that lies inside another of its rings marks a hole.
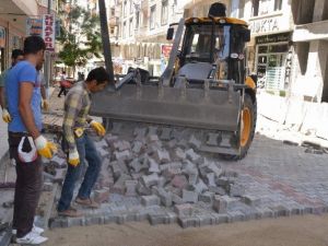
[[[16,161],[16,184],[14,195],[13,229],[17,237],[31,232],[36,207],[43,186],[43,165],[38,156],[35,161],[24,163],[19,159],[17,148],[23,133],[9,132],[9,151]]]

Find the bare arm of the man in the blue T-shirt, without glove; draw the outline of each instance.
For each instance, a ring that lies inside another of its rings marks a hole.
[[[31,99],[33,95],[34,84],[31,82],[21,82],[20,83],[20,99],[19,99],[19,110],[21,118],[32,136],[33,139],[36,139],[40,136],[33,117],[33,110],[31,108]]]

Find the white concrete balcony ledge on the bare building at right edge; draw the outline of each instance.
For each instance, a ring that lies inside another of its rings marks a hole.
[[[328,21],[296,25],[293,33],[293,42],[328,40],[327,30]]]

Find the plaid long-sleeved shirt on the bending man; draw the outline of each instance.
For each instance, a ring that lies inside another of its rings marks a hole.
[[[81,81],[70,89],[65,99],[62,129],[70,151],[77,147],[74,130],[79,127],[85,128],[90,121],[90,94],[86,90],[85,82]]]

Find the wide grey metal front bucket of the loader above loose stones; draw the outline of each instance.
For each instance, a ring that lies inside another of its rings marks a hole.
[[[97,93],[91,114],[110,120],[204,129],[218,134],[218,144],[207,150],[236,154],[239,147],[231,144],[231,139],[238,130],[243,93],[234,90],[232,81],[221,89],[210,87],[209,83],[206,80],[203,89],[168,87],[161,83],[125,84],[119,91]],[[222,148],[226,151],[220,150]]]

